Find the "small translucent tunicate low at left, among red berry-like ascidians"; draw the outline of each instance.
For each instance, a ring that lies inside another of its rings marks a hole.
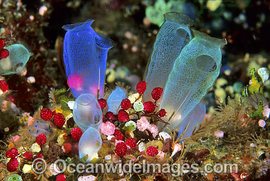
[[[48,140],[53,139],[55,135],[54,128],[51,128],[50,124],[42,119],[32,122],[29,127],[29,133],[33,137],[44,134]]]

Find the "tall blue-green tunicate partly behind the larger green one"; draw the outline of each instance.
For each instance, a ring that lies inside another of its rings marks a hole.
[[[175,17],[173,13],[165,13],[164,17],[166,22],[162,24],[156,37],[145,69],[145,81],[147,82],[144,92],[145,101],[155,101],[151,92],[154,88],[165,87],[175,60],[180,55],[182,48],[192,39],[189,26],[193,25],[193,21],[187,15],[181,14],[181,16]]]

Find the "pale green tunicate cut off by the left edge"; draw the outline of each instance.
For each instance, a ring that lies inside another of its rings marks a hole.
[[[0,75],[20,73],[33,52],[25,43],[9,45],[5,48],[8,49],[9,56],[0,60]]]

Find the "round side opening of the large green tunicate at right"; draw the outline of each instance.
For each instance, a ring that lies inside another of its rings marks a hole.
[[[214,72],[217,68],[216,61],[209,55],[199,55],[195,59],[196,69],[204,72]]]

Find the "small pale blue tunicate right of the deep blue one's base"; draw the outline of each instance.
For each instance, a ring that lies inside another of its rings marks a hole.
[[[122,100],[125,98],[128,98],[128,91],[126,89],[116,87],[116,89],[113,92],[111,92],[111,94],[108,97],[107,100],[109,107],[108,111],[116,114],[118,112]]]

